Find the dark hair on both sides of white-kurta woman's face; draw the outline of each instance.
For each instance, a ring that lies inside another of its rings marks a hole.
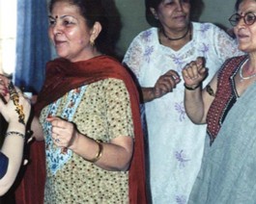
[[[159,4],[163,0],[145,0],[145,7],[146,7],[146,20],[147,22],[154,27],[160,27],[159,21],[155,18],[153,13],[151,12],[151,8],[157,10]],[[204,9],[204,3],[202,0],[190,0],[190,19],[197,21],[200,14]]]

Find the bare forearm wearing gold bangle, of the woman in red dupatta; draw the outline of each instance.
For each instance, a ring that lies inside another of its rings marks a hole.
[[[73,143],[71,150],[87,161],[95,159],[99,154],[100,145],[96,140],[80,135]],[[110,171],[128,170],[133,151],[133,140],[130,137],[119,137],[111,143],[100,144],[101,156],[95,165]]]

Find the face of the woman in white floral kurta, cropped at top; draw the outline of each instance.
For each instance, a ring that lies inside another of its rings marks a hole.
[[[189,23],[189,0],[163,0],[157,10],[151,11],[166,29],[184,30]]]

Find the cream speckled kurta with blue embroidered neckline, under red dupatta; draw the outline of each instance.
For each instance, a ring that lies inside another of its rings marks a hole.
[[[46,150],[44,203],[128,203],[128,171],[107,171],[51,140],[47,115],[76,124],[80,133],[95,140],[134,137],[128,91],[121,80],[106,79],[73,89],[43,109]]]

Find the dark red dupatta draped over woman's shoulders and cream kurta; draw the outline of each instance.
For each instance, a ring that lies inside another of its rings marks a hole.
[[[129,203],[144,204],[147,203],[147,198],[145,182],[144,140],[140,121],[139,96],[131,76],[118,61],[107,56],[100,56],[77,63],[71,63],[64,59],[57,59],[49,62],[46,65],[46,80],[44,82],[43,89],[39,94],[35,110],[36,113],[40,113],[43,107],[63,96],[69,90],[107,78],[123,80],[129,92],[135,135],[134,153],[129,168],[128,179]],[[45,169],[45,159],[44,155],[42,155],[44,146],[42,144],[35,143],[43,142],[34,142],[33,145],[37,145],[34,147],[32,145],[32,163],[30,166],[28,166],[23,181],[21,182],[18,191],[16,191],[17,204],[34,204],[39,203],[39,201],[42,201],[43,203],[44,185],[41,187],[30,186],[31,183],[44,184],[45,178],[45,172],[43,170]],[[33,151],[38,151],[39,155],[36,155]],[[37,157],[39,156],[41,157],[40,160],[43,164],[36,162],[37,169],[35,169],[33,163],[38,160]],[[40,168],[40,171],[38,171],[38,168]],[[38,175],[39,173],[40,175]],[[35,188],[39,188],[39,191],[37,191],[37,189],[35,191]],[[37,195],[35,195],[35,193]],[[33,199],[34,195],[36,199]],[[27,198],[24,199],[24,197]]]

